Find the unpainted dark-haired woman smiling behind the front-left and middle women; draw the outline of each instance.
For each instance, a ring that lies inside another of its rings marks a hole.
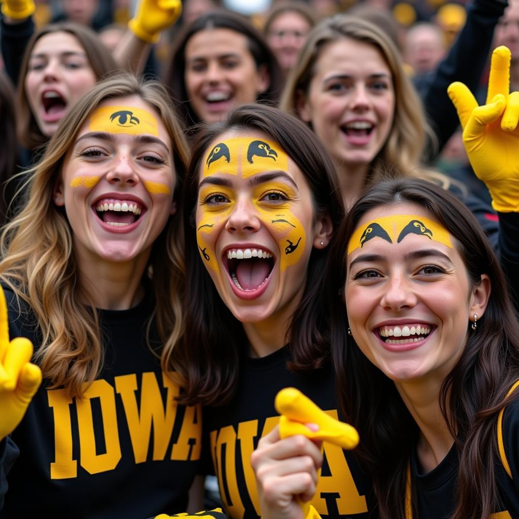
[[[175,39],[163,83],[189,128],[221,120],[241,104],[276,103],[282,73],[250,22],[228,11],[213,11]]]

